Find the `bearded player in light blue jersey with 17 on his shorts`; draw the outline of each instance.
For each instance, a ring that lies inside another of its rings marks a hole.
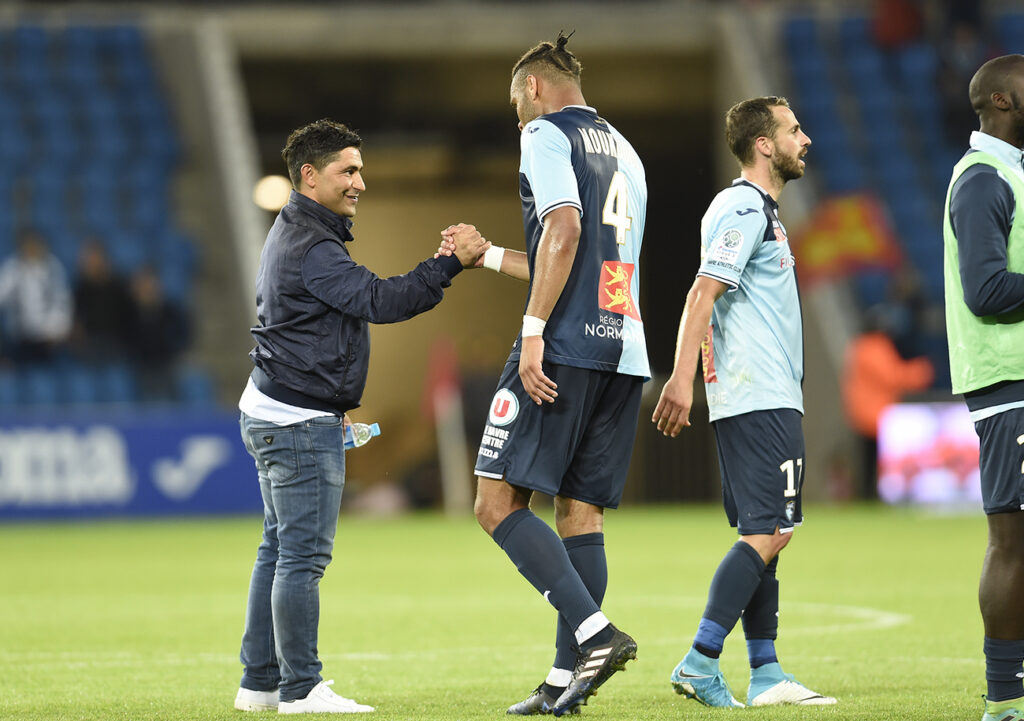
[[[686,296],[672,377],[653,422],[676,436],[690,425],[697,358],[722,469],[722,497],[739,541],[722,559],[686,656],[672,672],[677,693],[740,707],[719,670],[725,637],[742,617],[751,661],[749,706],[823,705],[782,671],[778,554],[803,519],[803,327],[793,253],[778,196],[804,174],[811,140],[782,97],[729,109],[729,150],[740,176],[720,193],[700,226],[700,268]]]

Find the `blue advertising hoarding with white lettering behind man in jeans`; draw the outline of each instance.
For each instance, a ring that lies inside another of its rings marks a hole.
[[[0,416],[0,520],[262,508],[238,414]]]

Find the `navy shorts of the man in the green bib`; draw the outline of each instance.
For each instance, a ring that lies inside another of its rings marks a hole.
[[[981,499],[985,513],[1024,509],[1024,408],[974,424],[981,439]]]

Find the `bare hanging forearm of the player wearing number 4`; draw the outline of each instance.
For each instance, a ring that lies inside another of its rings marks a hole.
[[[561,212],[563,210],[568,213]],[[579,211],[575,208],[558,208],[549,213],[534,258],[534,285],[526,305],[527,315],[542,321],[551,315],[572,270],[579,245]]]

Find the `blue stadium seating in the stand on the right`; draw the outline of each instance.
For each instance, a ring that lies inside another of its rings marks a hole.
[[[1005,15],[997,27],[1008,51],[1024,51],[1024,13]],[[873,192],[926,298],[940,303],[942,206],[963,147],[949,146],[942,125],[936,47],[921,42],[884,52],[868,18],[856,14],[798,11],[783,20],[781,38],[795,108],[814,142],[811,177],[825,195]],[[892,282],[886,269],[861,270],[852,280],[863,308],[884,302]],[[938,383],[948,383],[944,334],[923,331],[920,350]]]

